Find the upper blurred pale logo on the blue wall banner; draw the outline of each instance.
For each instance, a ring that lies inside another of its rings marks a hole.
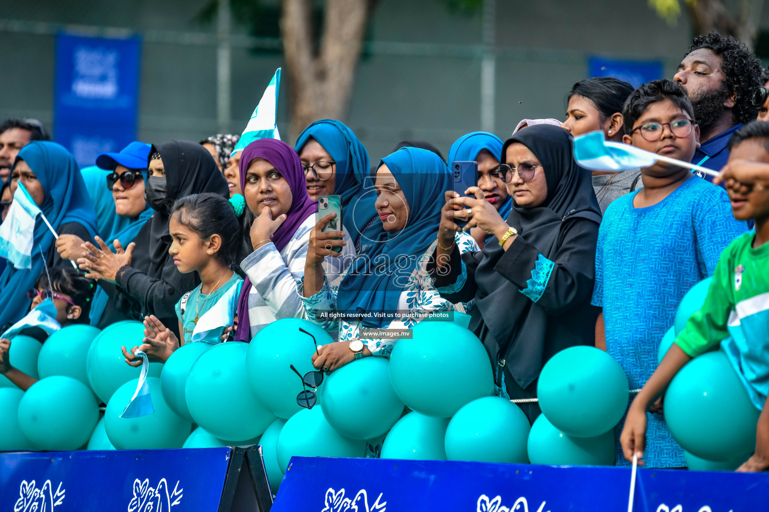
[[[98,100],[118,96],[118,52],[81,46],[75,50],[72,94]]]

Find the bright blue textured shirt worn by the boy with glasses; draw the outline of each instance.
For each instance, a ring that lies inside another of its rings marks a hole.
[[[607,352],[631,389],[657,368],[660,340],[695,283],[712,276],[721,251],[747,230],[734,219],[726,190],[691,177],[659,203],[634,208],[638,193],[604,213],[595,253],[592,303],[604,309]],[[684,452],[661,415],[647,413],[646,467],[684,467]],[[618,426],[617,438],[624,420]],[[617,464],[628,464],[618,448]]]

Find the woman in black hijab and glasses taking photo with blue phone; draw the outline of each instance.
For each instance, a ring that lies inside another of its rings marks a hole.
[[[469,329],[491,358],[498,393],[533,398],[549,358],[594,344],[598,309],[590,300],[601,210],[591,173],[574,162],[571,136],[561,127],[522,130],[504,143],[501,161],[513,210],[503,220],[476,187],[469,191],[476,198],[446,193],[435,285],[451,302],[475,299]],[[495,238],[460,257],[454,217],[468,216],[465,230],[478,226]],[[539,414],[537,404],[521,408],[529,421]]]

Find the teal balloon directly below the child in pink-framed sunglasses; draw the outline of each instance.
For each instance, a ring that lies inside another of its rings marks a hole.
[[[62,327],[48,336],[38,355],[40,378],[65,375],[90,386],[85,359],[99,332],[102,331],[93,325],[75,324]]]

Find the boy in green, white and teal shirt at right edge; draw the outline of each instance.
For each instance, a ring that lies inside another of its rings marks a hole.
[[[729,150],[722,180],[732,212],[737,220],[754,220],[755,231],[734,239],[721,254],[704,306],[691,316],[631,404],[620,438],[628,461],[634,454],[643,458],[646,411],[677,372],[691,358],[721,345],[761,409],[755,454],[737,471],[769,467],[769,176],[762,177],[753,164],[769,164],[769,123],[756,121],[737,130]]]

